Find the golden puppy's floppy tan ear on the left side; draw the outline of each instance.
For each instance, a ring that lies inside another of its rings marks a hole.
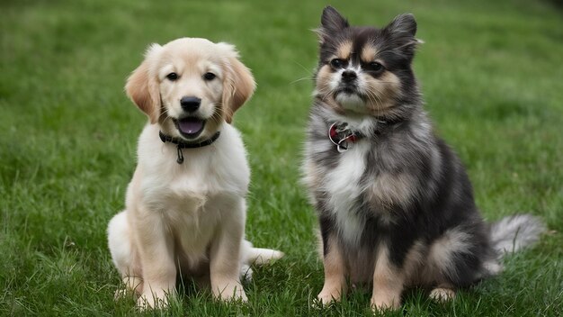
[[[127,79],[125,91],[139,109],[147,113],[151,123],[158,122],[160,116],[160,91],[158,89],[157,74],[152,69],[156,55],[162,49],[158,44],[148,47],[145,60]]]

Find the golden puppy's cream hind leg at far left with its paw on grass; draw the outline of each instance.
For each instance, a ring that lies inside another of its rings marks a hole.
[[[120,272],[125,290],[118,289],[115,297],[121,297],[128,292],[139,295],[143,291],[143,281],[139,266],[136,264],[136,253],[130,236],[129,222],[126,212],[113,216],[108,225],[108,244],[115,267]]]

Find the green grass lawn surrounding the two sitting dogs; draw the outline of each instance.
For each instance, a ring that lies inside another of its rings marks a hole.
[[[0,2],[0,314],[129,315],[105,229],[123,208],[145,116],[123,94],[148,43],[229,41],[258,89],[236,116],[253,169],[247,237],[286,258],[255,269],[249,303],[190,285],[165,315],[360,316],[370,294],[324,311],[315,214],[299,161],[326,3]],[[333,1],[355,24],[412,12],[436,130],[469,169],[485,217],[530,212],[551,233],[501,276],[446,304],[412,290],[389,316],[556,316],[563,311],[563,19],[547,1]],[[151,314],[151,312],[147,312]]]

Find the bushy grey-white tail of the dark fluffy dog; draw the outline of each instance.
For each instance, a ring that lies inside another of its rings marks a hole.
[[[544,231],[545,224],[539,217],[531,214],[505,217],[491,224],[491,246],[496,250],[498,258],[502,258],[506,253],[532,246],[540,240]]]

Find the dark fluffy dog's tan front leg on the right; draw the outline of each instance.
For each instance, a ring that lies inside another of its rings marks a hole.
[[[398,267],[391,263],[387,246],[380,245],[373,273],[371,308],[373,310],[398,308],[401,304],[404,280]]]

